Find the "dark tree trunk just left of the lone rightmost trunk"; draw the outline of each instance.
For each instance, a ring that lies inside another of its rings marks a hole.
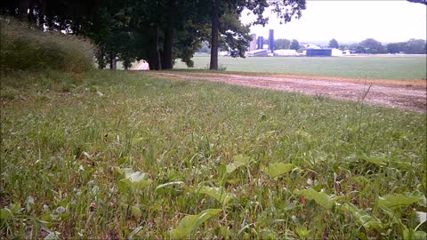
[[[174,14],[175,14],[176,0],[169,0],[169,12],[166,21],[165,43],[163,54],[163,69],[173,68],[173,36],[174,36]]]

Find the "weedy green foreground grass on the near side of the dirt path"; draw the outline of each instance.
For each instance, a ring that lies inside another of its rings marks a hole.
[[[2,238],[425,237],[425,114],[123,71],[1,93]]]

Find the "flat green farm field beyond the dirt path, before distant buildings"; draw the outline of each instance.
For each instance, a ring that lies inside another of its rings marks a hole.
[[[193,58],[198,69],[208,68],[209,56]],[[340,76],[372,79],[426,79],[426,56],[411,57],[220,57],[220,68],[227,71],[264,72],[309,76]],[[187,68],[177,61],[174,68]]]

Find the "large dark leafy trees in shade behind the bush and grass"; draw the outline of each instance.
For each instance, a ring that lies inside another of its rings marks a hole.
[[[218,68],[218,48],[244,57],[251,41],[249,25],[239,20],[243,10],[265,25],[268,7],[282,22],[300,18],[305,0],[11,0],[0,13],[27,20],[36,28],[86,36],[98,45],[100,68],[125,68],[133,60],[148,60],[150,69],[173,68],[181,59],[191,66],[200,44],[211,48],[211,69]]]

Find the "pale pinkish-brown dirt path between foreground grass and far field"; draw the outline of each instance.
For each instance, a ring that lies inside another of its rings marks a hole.
[[[188,72],[150,72],[149,74],[157,77],[208,80],[285,92],[301,92],[308,95],[326,96],[335,100],[357,101],[367,93],[365,102],[368,104],[427,112],[425,80],[361,80],[319,76],[246,76]]]

